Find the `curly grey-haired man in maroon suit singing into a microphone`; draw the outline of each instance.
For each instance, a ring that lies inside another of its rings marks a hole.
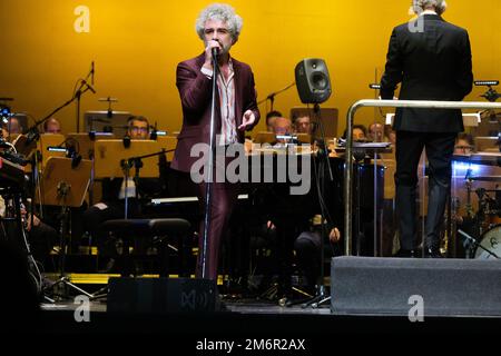
[[[213,6],[218,19],[234,16],[227,6]],[[206,12],[208,13],[208,12]],[[223,135],[233,140],[216,139],[217,146],[243,144],[246,129],[252,129],[259,119],[254,88],[254,76],[249,66],[229,58],[229,48],[236,42],[239,29],[228,28],[229,21],[206,18],[198,29],[198,34],[206,44],[205,53],[180,62],[177,67],[177,88],[183,105],[183,128],[178,136],[171,168],[190,172],[193,164],[199,157],[190,157],[195,144],[209,144],[212,113],[212,50],[219,51],[219,77],[215,109],[215,135]],[[232,21],[234,23],[235,21]],[[235,32],[236,31],[236,32]],[[208,70],[207,70],[208,69]],[[232,88],[232,89],[228,89]],[[222,97],[222,93],[224,98]],[[222,107],[224,110],[222,110]],[[228,116],[228,113],[230,113]],[[228,120],[228,118],[230,118]],[[225,134],[226,132],[226,134]],[[198,198],[205,208],[206,184],[198,185]],[[226,233],[230,212],[238,195],[238,185],[229,182],[213,184],[212,219],[208,229],[205,275],[200,260],[197,264],[197,277],[217,278],[219,245]],[[199,254],[203,248],[204,224],[200,224]]]

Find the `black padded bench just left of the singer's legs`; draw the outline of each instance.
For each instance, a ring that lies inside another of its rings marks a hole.
[[[185,219],[168,218],[168,219],[115,219],[102,224],[106,231],[112,233],[117,238],[124,241],[122,254],[119,258],[119,268],[121,276],[136,275],[132,268],[131,256],[129,247],[138,239],[159,238],[160,257],[160,277],[168,277],[168,238],[176,237],[178,239],[179,254],[179,275],[185,274],[185,246],[191,225]]]

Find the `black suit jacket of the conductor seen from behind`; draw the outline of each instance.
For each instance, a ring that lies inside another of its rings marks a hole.
[[[470,39],[466,30],[438,14],[393,29],[381,79],[381,97],[393,99],[402,82],[401,100],[461,101],[473,83]],[[411,29],[414,29],[411,31]],[[397,109],[395,130],[416,132],[463,131],[461,110]]]

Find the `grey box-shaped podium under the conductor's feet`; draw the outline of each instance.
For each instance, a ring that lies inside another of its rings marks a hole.
[[[424,317],[500,316],[501,264],[494,259],[335,257],[331,294],[332,312],[337,315],[409,316],[420,303]]]

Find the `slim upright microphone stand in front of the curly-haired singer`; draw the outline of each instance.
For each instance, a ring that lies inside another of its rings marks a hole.
[[[217,76],[219,71],[219,63],[217,61],[217,56],[213,51],[213,97],[210,99],[210,131],[209,131],[209,155],[207,172],[205,175],[205,214],[204,214],[204,231],[202,236],[202,251],[200,251],[200,266],[202,266],[202,278],[207,278],[207,243],[208,243],[208,231],[210,228],[210,217],[212,217],[212,200],[213,200],[213,170],[214,170],[214,150],[215,145],[215,120],[216,120],[216,95],[217,95]],[[204,172],[205,174],[205,172]]]

